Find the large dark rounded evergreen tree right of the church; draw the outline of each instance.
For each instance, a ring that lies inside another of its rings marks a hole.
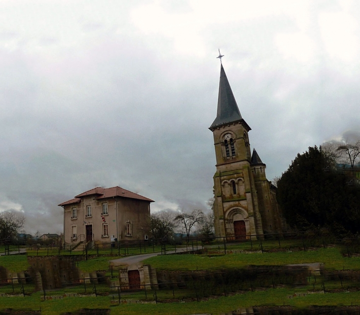
[[[337,172],[317,146],[297,154],[278,181],[277,200],[297,230],[328,227],[337,235],[360,231],[360,186]]]

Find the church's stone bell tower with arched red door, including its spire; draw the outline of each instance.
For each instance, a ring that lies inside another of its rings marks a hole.
[[[250,126],[241,116],[225,70],[220,68],[214,135],[214,216],[216,236],[245,240],[263,234],[255,180],[252,175]]]

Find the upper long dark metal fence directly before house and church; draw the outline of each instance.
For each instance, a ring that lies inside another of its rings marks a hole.
[[[168,239],[149,239],[142,241],[116,241],[87,244],[77,246],[61,244],[43,245],[34,243],[31,246],[6,245],[0,247],[0,254],[28,252],[28,255],[82,255],[88,257],[127,256],[150,252],[188,252],[199,253],[201,250],[207,254],[227,254],[231,252],[268,252],[286,250],[307,250],[313,247],[326,247],[338,245],[342,253],[348,255],[360,252],[360,239],[358,237],[336,239],[328,230],[307,232],[276,233],[265,235],[250,235],[247,239],[232,239],[226,237],[190,237]]]

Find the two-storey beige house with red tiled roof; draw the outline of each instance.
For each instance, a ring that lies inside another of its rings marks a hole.
[[[153,200],[121,187],[95,187],[61,203],[64,242],[146,240]]]

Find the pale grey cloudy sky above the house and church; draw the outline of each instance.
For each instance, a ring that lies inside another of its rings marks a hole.
[[[57,205],[119,185],[206,209],[220,63],[272,179],[360,137],[360,3],[0,0],[0,211],[61,232]]]

